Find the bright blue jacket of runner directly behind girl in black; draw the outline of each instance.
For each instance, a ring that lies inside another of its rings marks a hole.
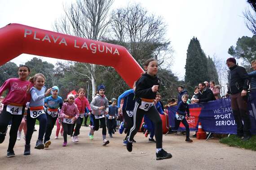
[[[129,89],[122,93],[117,100],[117,107],[120,107],[121,99],[124,98],[123,110],[133,110],[135,106],[134,90]]]

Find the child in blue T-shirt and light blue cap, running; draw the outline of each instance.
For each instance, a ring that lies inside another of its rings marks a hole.
[[[52,95],[44,99],[44,103],[47,104],[47,127],[44,135],[44,148],[49,148],[51,144],[50,136],[52,134],[52,130],[54,124],[58,117],[58,108],[62,108],[62,98],[58,96],[59,88],[57,86],[52,87],[51,91]]]

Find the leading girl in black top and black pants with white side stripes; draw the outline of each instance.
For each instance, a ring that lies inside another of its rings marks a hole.
[[[129,152],[132,152],[132,139],[140,127],[143,116],[146,114],[155,126],[156,160],[168,159],[171,158],[172,155],[162,149],[162,120],[159,116],[158,110],[154,106],[154,99],[160,85],[160,81],[156,76],[158,72],[157,60],[146,60],[144,68],[146,72],[136,82],[136,103],[133,110],[134,124],[130,130],[126,148]]]

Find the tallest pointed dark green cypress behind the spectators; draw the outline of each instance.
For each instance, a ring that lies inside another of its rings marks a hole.
[[[210,79],[207,57],[197,38],[190,40],[185,70],[185,85],[189,94],[194,92],[194,86],[198,85],[200,82],[209,81]]]

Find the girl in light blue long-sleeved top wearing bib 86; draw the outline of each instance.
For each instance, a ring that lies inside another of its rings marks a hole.
[[[28,114],[26,115],[27,132],[24,155],[30,155],[30,141],[34,132],[36,119],[39,121],[39,134],[35,149],[44,149],[43,138],[47,124],[47,117],[44,112],[44,97],[52,90],[52,88],[50,88],[45,92],[45,77],[42,73],[35,74],[29,81],[34,83],[34,87],[30,89],[31,100],[29,108],[27,109]]]

